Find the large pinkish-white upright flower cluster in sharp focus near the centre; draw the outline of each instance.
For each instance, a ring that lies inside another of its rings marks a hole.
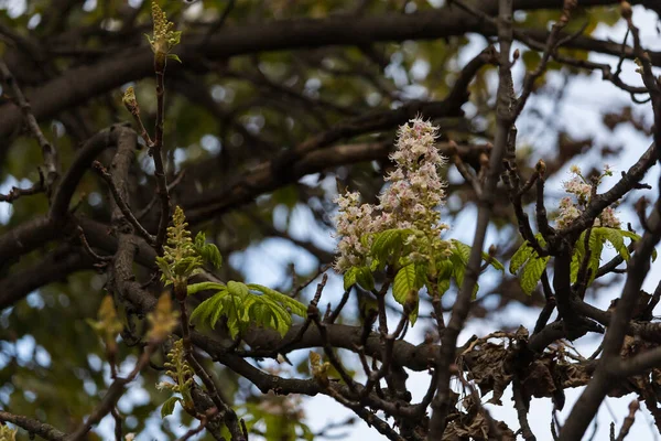
[[[446,186],[438,176],[446,159],[434,146],[436,130],[421,118],[400,127],[397,150],[390,155],[397,169],[386,178],[389,184],[379,195],[378,205],[360,204],[358,193],[347,192],[336,198],[340,237],[335,262],[338,272],[366,263],[370,244],[360,239],[370,233],[391,228],[416,230],[408,240],[409,245],[420,245],[412,247],[416,249],[410,256],[414,260],[427,259],[447,248],[441,233],[448,226],[440,222],[436,209],[445,200]]]

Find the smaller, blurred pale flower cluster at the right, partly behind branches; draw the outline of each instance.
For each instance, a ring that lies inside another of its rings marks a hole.
[[[560,201],[560,214],[555,219],[555,225],[557,228],[566,227],[572,223],[572,220],[581,216],[589,203],[593,185],[598,185],[604,176],[613,175],[613,169],[610,165],[605,165],[602,175],[598,176],[594,184],[589,184],[581,173],[581,169],[577,165],[572,165],[570,168],[570,172],[574,174],[574,176],[570,181],[563,182],[563,187],[567,193],[574,195],[575,201],[572,198],[572,196],[563,197]],[[615,208],[609,206],[606,207],[602,214],[599,214],[599,216],[595,219],[594,225],[597,227],[620,228],[621,223],[617,218]]]

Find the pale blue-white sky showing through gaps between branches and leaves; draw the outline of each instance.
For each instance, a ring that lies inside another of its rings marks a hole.
[[[88,1],[89,2],[89,1]],[[13,7],[20,7],[20,1],[10,2]],[[2,0],[0,0],[0,7],[2,7]],[[89,6],[88,6],[89,7]],[[642,8],[636,7],[633,9],[633,20],[637,25],[641,29],[641,39],[643,44],[651,50],[661,50],[661,40],[655,31],[655,17],[653,13],[647,13]],[[621,41],[626,32],[626,29],[622,23],[617,24],[614,28],[602,26],[597,29],[597,35],[602,39],[613,39],[615,41]],[[472,43],[466,47],[466,50],[462,53],[462,56],[457,61],[459,65],[464,65],[473,55],[479,52],[484,47],[484,39],[478,36],[473,36],[470,39]],[[616,61],[613,57],[605,56],[593,56],[592,60],[606,62],[610,64],[615,64]],[[427,71],[429,65],[425,66],[425,62],[420,62],[416,66],[416,71],[421,73],[421,75]],[[393,68],[391,71],[391,75],[397,75],[397,69]],[[517,84],[521,84],[521,78],[523,75],[523,71],[521,68],[521,64],[519,63],[514,67],[514,82]],[[494,78],[495,79],[495,78]],[[640,79],[638,75],[635,73],[635,66],[632,63],[627,63],[625,68],[625,75],[622,76],[629,84],[640,84]],[[559,87],[561,86],[561,79],[557,75],[552,75],[551,83],[557,83]],[[425,90],[416,87],[412,87],[410,89],[412,95],[420,95],[424,97]],[[641,136],[638,132],[632,131],[631,129],[621,128],[617,129],[615,132],[607,132],[604,130],[603,125],[600,123],[602,111],[605,108],[617,109],[620,106],[629,105],[630,100],[626,94],[622,94],[620,90],[616,89],[608,83],[605,83],[600,79],[598,74],[593,74],[589,76],[584,76],[582,78],[575,78],[568,86],[568,90],[566,92],[566,98],[560,103],[560,107],[556,107],[556,103],[552,101],[548,97],[538,97],[533,96],[529,104],[529,108],[531,106],[535,106],[542,111],[546,112],[550,118],[556,119],[559,121],[565,121],[564,128],[568,130],[572,135],[577,137],[589,135],[596,136],[598,141],[610,142],[611,144],[624,144],[625,152],[617,160],[616,164],[611,164],[616,168],[616,176],[620,170],[626,170],[629,165],[635,163],[639,155],[648,148],[651,142],[650,139]],[[651,108],[649,105],[637,106],[636,111],[642,112],[646,115],[648,121],[651,120]],[[553,115],[553,112],[557,112],[557,115]],[[525,118],[524,114],[522,118]],[[532,127],[530,125],[522,125],[520,127],[519,132],[519,141],[520,142],[529,142],[535,147],[535,155],[541,155],[544,158],[552,158],[553,152],[553,143],[555,142],[555,136],[552,130],[544,130],[544,127]],[[578,165],[595,165],[596,160],[598,159],[597,152],[587,153],[583,157]],[[451,179],[454,172],[451,172]],[[652,172],[646,178],[647,182],[655,183],[658,180],[658,168],[654,168]],[[456,174],[454,174],[456,176]],[[564,179],[568,179],[568,171],[564,171],[559,173],[559,179],[550,182],[551,189],[555,186],[555,193],[560,194],[561,182]],[[314,176],[306,178],[305,180],[314,180]],[[615,182],[615,178],[611,180],[607,180],[603,187],[607,189],[610,184]],[[326,182],[328,187],[334,187],[334,182]],[[12,185],[21,185],[28,186],[30,182],[23,180],[21,182],[15,179],[8,179],[4,182],[0,183],[0,193],[7,193]],[[550,191],[549,194],[553,194],[553,191]],[[648,197],[653,198],[657,195],[650,194]],[[635,197],[638,197],[636,195]],[[551,204],[549,205],[551,208]],[[8,204],[0,204],[0,223],[7,223],[10,216],[10,206]],[[274,223],[275,225],[283,224],[282,218],[285,213],[282,211],[277,211],[274,213]],[[334,238],[330,236],[328,230],[319,229],[313,222],[310,213],[302,206],[294,208],[291,213],[292,220],[290,222],[290,230],[289,233],[296,238],[301,239],[312,239],[318,246],[324,247],[325,249],[332,250],[334,247]],[[473,207],[467,207],[464,209],[462,214],[457,217],[455,225],[462,225],[462,228],[452,228],[448,233],[448,237],[457,238],[465,243],[470,244],[472,233],[475,228],[475,224],[473,219],[475,218],[475,209]],[[620,212],[620,218],[624,222],[632,222],[633,225],[638,225],[637,218],[635,214],[622,209]],[[487,244],[496,241],[497,232],[494,229],[489,230],[487,237]],[[283,281],[288,279],[286,276],[286,267],[290,262],[295,262],[296,269],[300,272],[312,271],[316,267],[316,261],[312,256],[307,255],[305,251],[297,249],[291,246],[288,241],[283,239],[268,239],[264,240],[260,245],[252,246],[248,248],[245,252],[235,254],[230,256],[230,262],[235,267],[240,267],[246,275],[246,279],[248,282],[259,282],[267,286],[279,286],[282,284]],[[659,259],[655,263],[653,263],[652,269],[646,282],[643,284],[643,289],[647,291],[653,291],[655,286],[659,282],[661,275],[661,259]],[[483,286],[488,286],[489,281],[494,280],[494,275],[486,275],[486,280],[480,281]],[[619,295],[619,290],[621,289],[622,283],[618,283],[614,286],[608,291],[603,291],[600,293],[599,299],[595,301],[595,305],[602,309],[605,309],[610,303],[611,299],[617,298]],[[314,283],[310,289],[314,289]],[[342,294],[342,281],[338,277],[332,277],[324,294],[323,302],[336,302]],[[39,297],[32,294],[30,297],[30,301],[39,303]],[[448,295],[444,299],[446,305],[452,304],[452,298]],[[35,304],[36,304],[35,303]],[[348,306],[350,308],[350,306]],[[350,314],[350,309],[347,310],[347,313]],[[421,311],[423,312],[423,311]],[[658,311],[657,311],[658,313]],[[472,320],[467,323],[466,327],[459,335],[459,344],[462,344],[465,340],[476,334],[478,336],[484,336],[489,332],[496,331],[503,323],[509,326],[512,325],[523,325],[528,329],[534,327],[534,322],[537,321],[538,313],[535,311],[531,311],[530,309],[510,305],[505,311],[499,312],[497,318],[492,318],[492,320],[484,321],[484,320]],[[445,318],[446,322],[449,315]],[[391,318],[391,320],[395,320],[395,318]],[[413,343],[420,343],[423,338],[421,335],[424,329],[424,324],[420,323],[415,327],[411,330],[408,334],[407,340]],[[19,352],[19,355],[24,354],[25,357],[32,354],[32,348],[37,345],[39,342],[34,342],[34,340],[22,338],[20,343],[15,346],[15,349]],[[598,340],[584,337],[576,342],[575,347],[582,354],[592,354],[592,352],[596,348],[598,344]],[[50,355],[42,354],[43,357],[50,357]],[[307,352],[299,351],[297,353],[292,355],[292,361],[295,364],[295,359],[300,357],[307,357]],[[2,361],[0,359],[0,367]],[[100,363],[100,361],[98,361]],[[132,366],[131,361],[124,363],[124,369],[130,369]],[[357,367],[356,359],[356,367]],[[140,381],[138,380],[136,386],[140,386]],[[422,395],[426,390],[426,386],[429,384],[429,376],[426,374],[414,374],[411,373],[411,377],[409,379],[409,386],[413,394],[414,400],[420,399]],[[93,390],[89,390],[94,392]],[[568,411],[571,411],[573,407],[573,402],[579,396],[581,388],[578,389],[568,389],[566,391],[566,405],[562,412],[559,413],[557,419],[562,423],[566,418]],[[487,395],[484,401],[488,400],[489,395]],[[119,402],[120,410],[126,413],[130,413],[133,405],[140,404],[141,401],[147,399],[147,394],[140,387],[132,387],[130,392],[127,394]],[[513,407],[510,406],[511,399],[511,389],[505,394],[502,402],[505,406],[494,406],[494,405],[485,405],[485,407],[489,410],[490,415],[499,420],[505,421],[512,430],[517,430],[519,427],[516,411]],[[632,399],[632,396],[627,396],[620,399],[607,398],[606,401],[602,405],[599,413],[596,419],[596,435],[594,439],[602,440],[608,439],[610,422],[614,421],[616,423],[616,430],[619,430],[621,426],[624,417],[627,415],[627,407]],[[644,405],[643,405],[644,406]],[[353,412],[348,409],[342,407],[342,405],[335,402],[333,399],[318,396],[314,398],[308,398],[305,401],[305,410],[307,415],[307,423],[313,429],[321,429],[327,422],[330,421],[342,421],[345,420],[348,416],[353,415]],[[551,422],[552,415],[552,404],[550,399],[533,399],[531,402],[530,410],[530,424],[532,431],[538,434],[538,439],[545,439],[549,434],[549,426]],[[160,423],[160,418],[156,416],[152,419],[150,423],[150,430],[152,431],[150,437],[139,437],[139,440],[142,439],[152,439],[159,438],[158,424]],[[100,431],[105,433],[110,439],[112,433],[112,420],[111,418],[106,418],[101,421]],[[182,428],[182,433],[186,430],[186,428]],[[588,433],[592,434],[592,428],[588,430]],[[364,441],[366,439],[369,440],[380,440],[386,439],[381,437],[377,431],[370,429],[364,422],[359,421],[354,427],[348,430],[339,430],[336,433],[347,433],[346,438],[343,438],[348,441]],[[642,438],[646,440],[657,440],[659,435],[655,431],[655,428],[651,421],[651,417],[647,411],[639,411],[637,413],[636,422],[631,428],[631,432],[629,439]]]

